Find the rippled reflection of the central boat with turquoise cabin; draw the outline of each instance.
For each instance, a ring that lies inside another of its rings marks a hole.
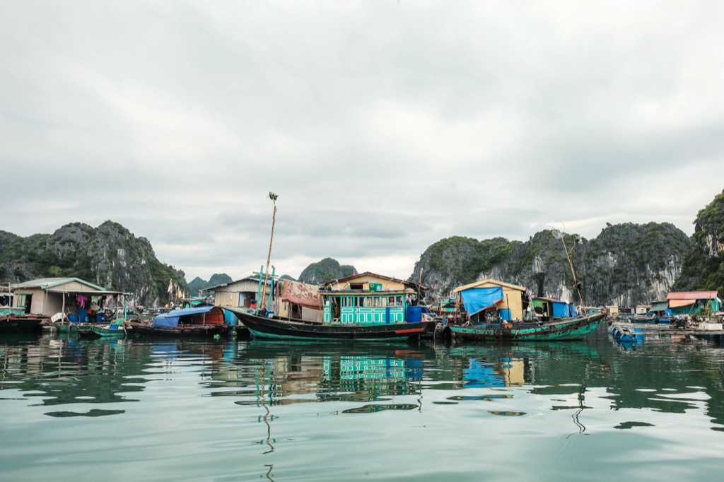
[[[251,342],[237,357],[216,366],[209,385],[214,396],[240,397],[238,405],[378,402],[421,392],[423,359],[416,350]]]

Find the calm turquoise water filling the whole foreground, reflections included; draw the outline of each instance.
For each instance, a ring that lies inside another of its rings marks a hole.
[[[710,481],[724,348],[0,337],[6,481]]]

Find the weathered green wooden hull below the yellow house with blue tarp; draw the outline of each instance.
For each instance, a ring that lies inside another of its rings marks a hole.
[[[563,318],[549,323],[511,324],[509,326],[487,326],[485,324],[471,326],[450,325],[452,334],[463,339],[473,340],[506,340],[506,341],[565,341],[584,339],[597,327],[599,321],[606,317],[606,312],[589,313],[586,316]]]

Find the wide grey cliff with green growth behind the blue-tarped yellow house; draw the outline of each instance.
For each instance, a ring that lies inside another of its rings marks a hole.
[[[584,303],[628,307],[665,298],[690,246],[689,237],[668,223],[609,224],[593,240],[560,239],[551,231],[527,242],[454,237],[428,248],[412,277],[423,269],[423,283],[432,287],[429,302],[486,278],[526,287],[532,296],[578,302],[568,250]]]

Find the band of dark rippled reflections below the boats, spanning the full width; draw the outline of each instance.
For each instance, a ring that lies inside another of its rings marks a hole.
[[[525,415],[529,408],[516,405],[522,390],[547,410],[570,410],[581,432],[580,415],[601,402],[614,411],[704,410],[712,428],[722,430],[723,367],[722,347],[705,342],[647,340],[622,352],[589,342],[325,346],[16,335],[0,338],[0,402],[54,407],[46,412],[53,417],[122,415],[125,407],[107,404],[140,402],[149,384],[177,380],[202,395],[261,407],[260,422],[270,423],[269,407],[295,404],[345,403],[340,413],[350,414],[422,410],[425,392],[445,394],[428,397],[435,405],[507,399],[510,406],[488,413]]]

